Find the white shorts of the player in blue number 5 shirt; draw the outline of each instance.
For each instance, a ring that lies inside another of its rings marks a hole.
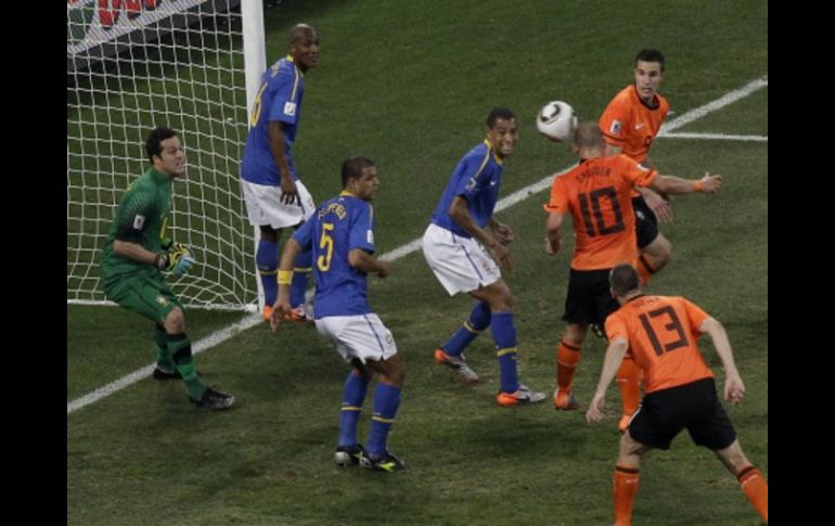
[[[360,316],[327,316],[316,320],[319,334],[336,344],[336,351],[343,360],[350,362],[358,358],[386,360],[397,354],[397,344],[391,331],[386,329],[374,312]]]

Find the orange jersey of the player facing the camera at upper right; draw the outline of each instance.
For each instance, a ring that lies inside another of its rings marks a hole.
[[[639,163],[650,152],[670,110],[667,99],[657,93],[655,97],[658,104],[651,108],[638,97],[634,85],[627,86],[612,99],[598,121],[606,142]]]

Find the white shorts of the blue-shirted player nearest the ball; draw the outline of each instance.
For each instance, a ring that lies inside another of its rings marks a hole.
[[[423,234],[423,256],[450,296],[496,283],[502,272],[487,249],[473,238],[461,238],[429,223]]]

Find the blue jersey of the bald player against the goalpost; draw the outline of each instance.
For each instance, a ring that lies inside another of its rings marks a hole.
[[[264,73],[261,87],[249,116],[249,134],[246,137],[244,157],[241,162],[243,180],[269,187],[281,184],[281,172],[270,151],[268,124],[273,120],[284,125],[284,155],[293,180],[298,179],[293,163],[293,143],[296,140],[304,97],[305,75],[296,67],[292,56],[281,59]]]

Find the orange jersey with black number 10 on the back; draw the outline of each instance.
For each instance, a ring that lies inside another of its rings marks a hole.
[[[630,192],[647,187],[658,175],[625,155],[583,161],[557,176],[551,187],[548,213],[570,214],[574,221],[575,270],[635,265],[638,242]]]

